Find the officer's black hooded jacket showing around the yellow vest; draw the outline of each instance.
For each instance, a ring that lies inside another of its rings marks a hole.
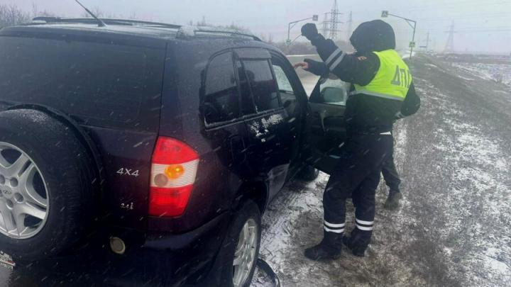
[[[358,26],[350,40],[358,52],[348,55],[341,51],[334,41],[319,34],[312,40],[312,45],[317,47],[324,62],[307,60],[309,71],[322,76],[331,72],[351,84],[369,84],[380,69],[380,60],[373,51],[394,49],[394,32],[383,21],[371,21]],[[365,94],[350,96],[346,101],[345,112],[348,134],[383,133],[392,130],[396,118],[410,116],[419,109],[420,99],[415,93],[413,83],[406,99],[405,103]]]

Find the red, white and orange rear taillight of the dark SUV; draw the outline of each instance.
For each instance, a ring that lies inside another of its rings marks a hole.
[[[192,193],[199,155],[170,137],[158,137],[151,167],[149,215],[176,217],[185,213]]]

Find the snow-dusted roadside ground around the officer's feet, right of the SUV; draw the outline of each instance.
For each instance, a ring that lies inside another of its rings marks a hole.
[[[260,251],[282,286],[511,286],[511,89],[434,58],[411,68],[422,109],[395,127],[401,208],[383,209],[380,183],[366,257],[310,261],[329,176],[288,184],[263,217]],[[253,286],[271,284],[258,274]]]

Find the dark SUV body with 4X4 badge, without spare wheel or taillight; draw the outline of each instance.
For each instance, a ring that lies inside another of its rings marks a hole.
[[[86,274],[83,282],[116,285],[214,277],[233,210],[251,199],[263,213],[303,166],[307,95],[291,64],[232,31],[42,22],[0,30],[0,111],[41,111],[70,126],[93,154],[100,186],[94,232],[37,269],[16,269],[37,278],[60,264],[57,281]],[[172,216],[149,212],[161,139],[198,158],[189,199]],[[111,252],[112,238],[125,243],[122,254]]]

